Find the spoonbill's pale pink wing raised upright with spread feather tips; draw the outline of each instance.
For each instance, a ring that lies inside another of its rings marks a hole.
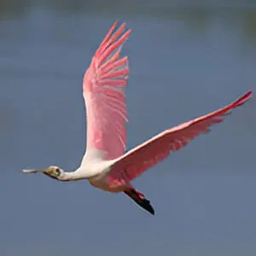
[[[84,74],[83,92],[87,114],[84,160],[87,157],[90,160],[111,160],[125,152],[125,86],[129,65],[128,57],[120,58],[120,52],[131,29],[125,32],[123,23],[113,33],[117,25],[118,21],[115,21]]]

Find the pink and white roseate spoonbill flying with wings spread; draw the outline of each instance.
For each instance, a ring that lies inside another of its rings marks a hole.
[[[132,186],[131,181],[166,159],[172,152],[186,146],[195,137],[210,131],[210,127],[222,122],[233,108],[247,102],[253,92],[248,90],[230,105],[162,131],[125,152],[125,86],[129,63],[128,56],[121,57],[120,54],[131,29],[126,31],[125,23],[119,28],[117,26],[118,21],[115,21],[84,73],[87,142],[79,168],[73,172],[64,172],[58,166],[49,166],[22,172],[41,172],[62,182],[87,179],[97,189],[113,193],[123,192],[154,215],[150,201]]]

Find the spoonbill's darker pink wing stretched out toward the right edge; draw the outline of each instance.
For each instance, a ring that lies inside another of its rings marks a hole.
[[[210,131],[211,125],[222,122],[225,115],[230,113],[233,108],[247,102],[251,95],[252,91],[248,91],[236,102],[232,102],[224,108],[163,131],[147,142],[131,149],[113,164],[108,173],[109,185],[116,187],[131,182],[148,168],[164,160],[172,151],[183,148],[198,135]]]

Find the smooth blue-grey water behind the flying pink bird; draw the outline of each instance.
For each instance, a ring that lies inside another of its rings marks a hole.
[[[79,166],[82,78],[115,19],[132,28],[128,148],[255,90],[256,12],[240,2],[0,2],[1,255],[255,255],[254,98],[134,182],[154,218],[86,182],[20,174]]]

